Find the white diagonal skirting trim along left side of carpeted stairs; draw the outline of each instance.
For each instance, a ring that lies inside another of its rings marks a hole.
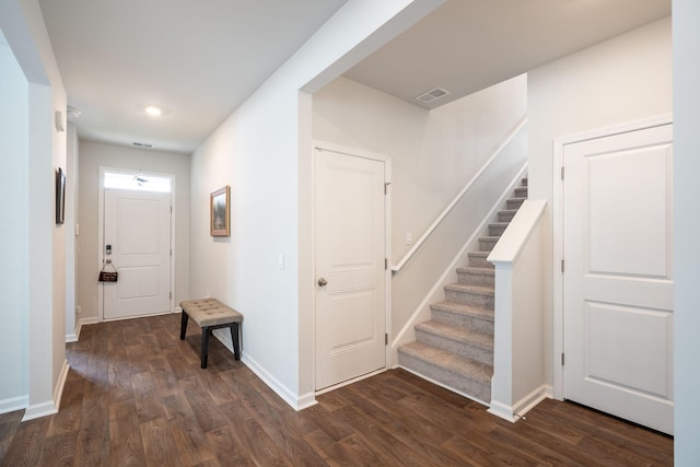
[[[436,295],[442,291],[443,287],[450,282],[450,277],[455,275],[455,270],[457,269],[457,265],[465,262],[465,256],[468,252],[471,250],[474,246],[479,241],[479,236],[483,235],[483,232],[487,229],[487,225],[492,221],[495,217],[497,212],[501,210],[505,200],[511,197],[513,194],[513,189],[517,186],[518,182],[524,177],[527,172],[527,162],[523,164],[523,167],[517,172],[515,177],[511,180],[509,186],[503,190],[503,194],[498,199],[498,201],[493,205],[491,210],[483,217],[479,225],[474,230],[474,233],[467,238],[464,246],[459,250],[459,253],[455,256],[450,265],[445,268],[442,276],[435,281],[430,291],[425,294],[420,304],[416,307],[411,316],[408,318],[404,327],[395,335],[392,340],[392,351],[395,351],[400,345],[405,342],[410,342],[415,340],[415,335],[411,335],[411,330],[416,326],[417,323],[430,319],[430,304],[439,301]],[[393,367],[398,367],[398,363],[393,365]]]

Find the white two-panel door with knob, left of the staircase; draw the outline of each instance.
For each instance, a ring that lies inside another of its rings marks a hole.
[[[386,365],[384,165],[315,153],[316,389]]]

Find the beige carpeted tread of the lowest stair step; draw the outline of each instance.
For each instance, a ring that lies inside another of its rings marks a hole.
[[[450,373],[488,385],[491,384],[493,367],[483,363],[465,359],[446,350],[422,342],[409,342],[398,348],[399,352],[421,360],[429,365],[438,366]]]

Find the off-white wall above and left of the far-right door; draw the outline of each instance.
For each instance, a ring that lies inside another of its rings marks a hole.
[[[545,355],[552,355],[552,141],[672,110],[670,19],[528,73],[529,197],[545,199]],[[547,382],[552,384],[552,361]]]

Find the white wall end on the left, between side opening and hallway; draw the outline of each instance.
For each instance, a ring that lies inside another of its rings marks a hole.
[[[55,412],[68,366],[65,348],[65,231],[54,223],[54,171],[66,165],[66,132],[55,126],[66,91],[36,0],[0,3],[2,30],[28,82],[28,406],[25,419]]]

